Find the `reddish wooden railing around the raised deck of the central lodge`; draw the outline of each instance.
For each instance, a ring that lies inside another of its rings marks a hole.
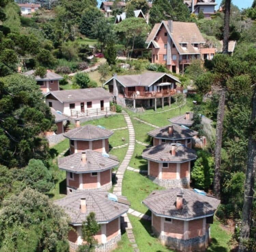
[[[176,93],[183,93],[183,88],[177,87],[176,89],[162,90],[162,91],[127,91],[125,98],[132,99],[145,99],[145,98],[161,98],[175,95]]]

